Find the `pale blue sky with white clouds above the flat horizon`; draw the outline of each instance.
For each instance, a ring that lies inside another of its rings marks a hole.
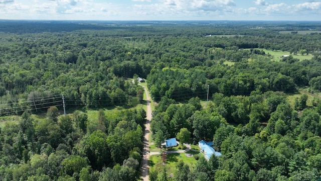
[[[0,19],[321,21],[321,0],[0,0]]]

